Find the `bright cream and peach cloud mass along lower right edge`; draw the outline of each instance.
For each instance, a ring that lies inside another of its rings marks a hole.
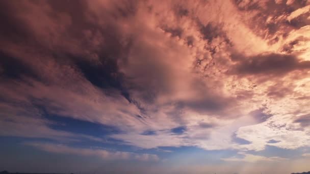
[[[290,87],[290,94],[277,95],[276,98],[265,101],[268,109],[264,112],[271,115],[265,122],[238,129],[237,137],[250,141],[249,144],[241,145],[242,148],[260,151],[265,149],[266,145],[283,149],[308,146],[308,92],[304,91],[308,87],[305,81],[307,78],[296,80]]]

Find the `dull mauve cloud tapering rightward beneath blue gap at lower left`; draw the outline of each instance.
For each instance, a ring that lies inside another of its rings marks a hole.
[[[86,138],[103,141],[99,137],[51,129],[49,126],[57,123],[41,118],[39,111],[35,108],[16,107],[8,104],[0,104],[0,108],[2,110],[0,113],[1,136],[50,138],[61,141],[79,141]]]

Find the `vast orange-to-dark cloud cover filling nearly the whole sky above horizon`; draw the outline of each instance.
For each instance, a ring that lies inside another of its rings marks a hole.
[[[55,114],[145,149],[308,146],[306,2],[63,3],[2,2],[1,135],[101,140]]]

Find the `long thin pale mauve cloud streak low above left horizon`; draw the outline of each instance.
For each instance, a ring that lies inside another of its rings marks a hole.
[[[73,148],[63,144],[25,142],[27,146],[59,154],[74,154],[82,156],[98,156],[104,160],[139,160],[139,161],[158,161],[159,157],[153,154],[136,154],[130,152],[107,151],[102,149]]]

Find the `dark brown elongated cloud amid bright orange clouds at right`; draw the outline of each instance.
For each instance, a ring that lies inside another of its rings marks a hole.
[[[310,68],[310,61],[299,61],[296,56],[287,54],[267,53],[250,57],[233,55],[232,59],[238,63],[231,73],[239,75],[281,76],[295,70]]]

